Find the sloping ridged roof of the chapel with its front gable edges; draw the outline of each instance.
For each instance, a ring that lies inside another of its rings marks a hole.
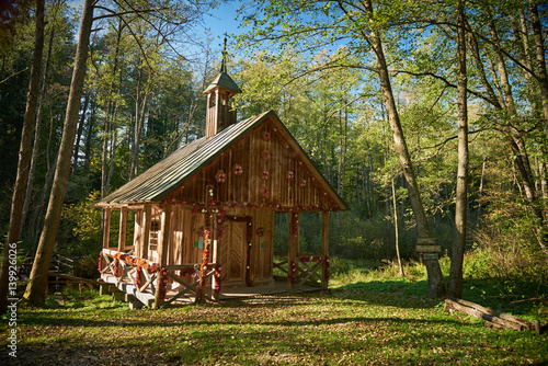
[[[165,159],[101,199],[96,206],[109,207],[125,204],[161,202],[186,180],[208,165],[209,162],[265,121],[273,123],[287,144],[289,144],[295,151],[299,152],[307,169],[315,172],[320,184],[335,201],[338,207],[343,210],[349,209],[347,205],[330,186],[316,164],[310,160],[300,145],[272,111],[230,125],[209,138],[203,137],[178,149]]]

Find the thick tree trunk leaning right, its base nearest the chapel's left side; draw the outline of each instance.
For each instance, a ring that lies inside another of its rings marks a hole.
[[[54,185],[49,195],[44,228],[34,259],[31,278],[23,298],[30,305],[41,306],[46,300],[47,272],[54,252],[55,240],[59,228],[62,203],[67,191],[67,181],[70,173],[72,145],[75,142],[80,98],[82,96],[85,78],[85,62],[90,42],[91,25],[93,23],[93,0],[85,0],[83,5],[82,22],[78,38],[78,47],[72,70],[72,81],[65,114],[65,123],[59,147],[57,167],[55,170]]]

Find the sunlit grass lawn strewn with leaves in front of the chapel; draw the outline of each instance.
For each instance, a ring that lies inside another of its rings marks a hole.
[[[44,308],[18,309],[18,359],[8,364],[548,364],[548,334],[484,329],[478,319],[449,314],[443,301],[420,293],[426,286],[420,268],[411,265],[409,278],[399,278],[389,264],[377,270],[345,265],[339,271],[333,263],[329,293],[160,310],[129,310],[109,296],[67,290],[65,307],[49,299]],[[466,286],[483,299],[498,294],[486,282]],[[512,308],[499,298],[496,304],[548,320],[532,302]],[[7,336],[3,322],[0,362],[8,357]]]

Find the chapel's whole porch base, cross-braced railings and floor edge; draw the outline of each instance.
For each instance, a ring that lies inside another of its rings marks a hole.
[[[167,265],[144,260],[126,252],[103,249],[100,258],[101,278],[105,287],[114,286],[126,301],[138,300],[147,307],[168,304],[193,304],[199,291],[201,278],[207,285],[203,291],[212,300],[227,300],[260,295],[295,294],[327,289],[329,258],[298,254],[296,261],[285,259],[287,253],[275,253],[278,274],[266,285],[221,288],[221,266],[208,263]],[[202,271],[204,270],[204,271]]]

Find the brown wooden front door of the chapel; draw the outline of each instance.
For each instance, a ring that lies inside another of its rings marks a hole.
[[[221,286],[246,285],[246,221],[228,221],[220,240]]]

